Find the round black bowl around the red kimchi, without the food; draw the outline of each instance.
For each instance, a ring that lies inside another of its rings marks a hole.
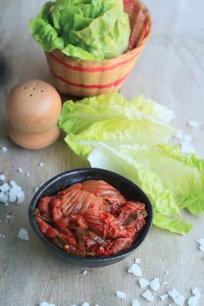
[[[106,181],[107,183],[115,187],[117,190],[119,190],[125,196],[126,199],[143,202],[145,204],[146,211],[148,213],[148,216],[145,218],[146,225],[129,249],[120,252],[116,255],[112,255],[105,258],[78,257],[60,250],[52,243],[50,243],[40,232],[33,215],[33,210],[37,207],[40,198],[57,194],[60,190],[62,190],[63,186],[69,187],[75,183],[82,183],[87,180]],[[34,195],[29,207],[29,220],[31,226],[38,238],[40,238],[50,250],[52,250],[61,259],[66,260],[66,262],[69,264],[93,268],[105,267],[116,264],[121,260],[125,259],[126,257],[130,256],[130,254],[132,254],[133,252],[135,252],[146,239],[151,227],[152,218],[153,211],[151,203],[145,193],[137,185],[125,179],[125,177],[119,174],[98,168],[75,169],[53,177],[53,179],[50,179],[48,182],[42,185],[42,187],[40,187],[40,189]]]

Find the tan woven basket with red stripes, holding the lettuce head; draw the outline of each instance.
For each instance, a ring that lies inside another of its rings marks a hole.
[[[126,53],[106,61],[74,60],[59,50],[45,52],[60,93],[81,97],[117,92],[132,71],[151,36],[151,15],[138,0],[123,0],[130,17],[131,37]]]

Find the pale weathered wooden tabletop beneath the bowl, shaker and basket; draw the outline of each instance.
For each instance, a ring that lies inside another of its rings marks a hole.
[[[39,12],[43,0],[1,1],[1,119],[0,170],[8,180],[15,180],[25,192],[25,201],[17,206],[0,206],[0,305],[37,306],[47,301],[56,306],[131,305],[138,298],[143,305],[169,305],[159,295],[173,288],[186,297],[198,287],[204,292],[203,253],[196,239],[204,238],[204,216],[184,213],[193,223],[193,230],[182,237],[153,226],[146,242],[123,262],[107,268],[88,269],[69,266],[56,259],[32,231],[28,220],[28,207],[34,188],[54,175],[88,164],[76,157],[63,141],[63,135],[52,146],[29,151],[12,143],[8,138],[5,98],[17,83],[28,79],[41,79],[52,84],[43,50],[32,39],[28,22]],[[176,114],[174,126],[192,135],[196,152],[204,157],[204,131],[186,125],[189,119],[204,124],[204,2],[197,0],[146,0],[152,13],[154,31],[139,62],[121,92],[126,98],[144,94],[172,108]],[[43,162],[44,167],[39,167]],[[17,171],[22,168],[23,172]],[[31,173],[30,177],[25,172]],[[8,222],[6,216],[12,214]],[[29,231],[29,241],[18,238],[20,228]],[[167,281],[155,294],[154,303],[141,297],[139,277],[127,273],[136,258],[141,259],[143,277]],[[165,271],[169,270],[169,274]],[[116,290],[126,293],[126,300],[116,297]],[[199,305],[204,304],[204,295]],[[187,305],[187,302],[185,303]]]

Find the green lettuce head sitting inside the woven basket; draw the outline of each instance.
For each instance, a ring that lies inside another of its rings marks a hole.
[[[67,56],[87,61],[123,54],[131,33],[122,0],[47,2],[30,20],[30,31],[47,52],[59,49]]]

